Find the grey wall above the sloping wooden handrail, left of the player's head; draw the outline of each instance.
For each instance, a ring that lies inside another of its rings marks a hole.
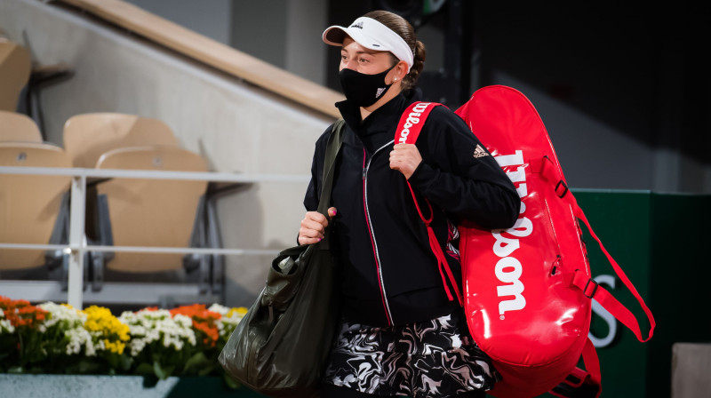
[[[326,0],[127,0],[317,84],[325,83]],[[334,60],[333,65],[337,65]]]

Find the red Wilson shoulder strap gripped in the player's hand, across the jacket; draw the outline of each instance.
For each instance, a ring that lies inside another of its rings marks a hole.
[[[403,112],[403,115],[400,116],[400,122],[397,123],[397,129],[395,130],[395,144],[414,144],[417,142],[419,133],[422,131],[422,127],[425,125],[425,121],[427,120],[427,115],[432,112],[432,109],[441,105],[442,104],[437,102],[414,102],[407,107]],[[450,301],[454,301],[454,296],[452,296],[450,290],[451,285],[457,299],[459,300],[459,306],[464,306],[464,299],[462,299],[461,292],[459,291],[457,280],[451,272],[447,258],[444,257],[442,247],[439,245],[439,242],[437,242],[435,231],[429,225],[432,222],[432,205],[429,203],[427,198],[425,198],[425,202],[429,207],[429,218],[426,218],[419,209],[417,196],[415,196],[415,191],[412,189],[410,181],[407,181],[407,187],[410,188],[412,201],[415,203],[419,219],[422,219],[422,222],[425,223],[425,227],[427,227],[429,247],[432,249],[432,252],[435,254],[435,258],[437,259],[439,275],[442,276],[442,284],[444,286],[444,291],[447,293],[447,298],[450,299]],[[447,283],[448,279],[449,283]]]

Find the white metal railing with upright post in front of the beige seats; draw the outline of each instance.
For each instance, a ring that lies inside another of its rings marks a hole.
[[[68,244],[30,244],[30,243],[0,243],[0,249],[19,250],[52,250],[63,251],[68,255],[68,292],[67,303],[76,308],[83,306],[84,267],[83,259],[89,251],[127,251],[155,253],[199,253],[214,255],[274,255],[277,251],[253,249],[213,249],[213,248],[176,248],[148,246],[103,246],[87,244],[84,232],[84,215],[86,211],[86,185],[90,179],[180,179],[192,181],[229,182],[229,183],[261,183],[261,182],[308,182],[308,175],[283,174],[232,174],[223,172],[195,171],[139,171],[84,169],[59,167],[15,167],[0,166],[0,174],[14,175],[44,175],[71,177],[71,204],[69,208],[69,239]]]

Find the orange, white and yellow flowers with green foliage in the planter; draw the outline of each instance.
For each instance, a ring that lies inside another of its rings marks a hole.
[[[175,396],[197,384],[197,396],[203,396],[200,393],[204,392],[204,386],[223,383],[224,371],[218,355],[246,312],[246,308],[218,304],[207,308],[196,304],[171,310],[150,307],[137,312],[124,311],[116,317],[100,306],[85,310],[52,302],[33,306],[27,300],[0,296],[0,375],[4,375],[0,387],[10,388],[17,383],[46,385],[50,386],[47,391],[52,391],[56,385],[62,388],[57,396],[71,396],[76,385],[91,389],[104,381],[110,384],[114,380],[134,380],[116,382],[120,386],[129,383],[150,387],[146,396]],[[16,382],[22,375],[32,382]],[[156,381],[151,383],[144,375]],[[170,377],[175,378],[157,382]],[[217,381],[208,381],[211,377]],[[182,381],[192,379],[196,381]],[[171,384],[177,386],[173,388]],[[170,394],[163,395],[161,388]],[[225,390],[235,396],[234,388],[225,386]],[[0,397],[18,396],[15,394],[18,392],[20,389],[2,394],[0,389]]]

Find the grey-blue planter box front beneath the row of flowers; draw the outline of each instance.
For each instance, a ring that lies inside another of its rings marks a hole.
[[[246,387],[229,388],[220,377],[0,374],[0,397],[12,398],[178,398],[263,397]]]

